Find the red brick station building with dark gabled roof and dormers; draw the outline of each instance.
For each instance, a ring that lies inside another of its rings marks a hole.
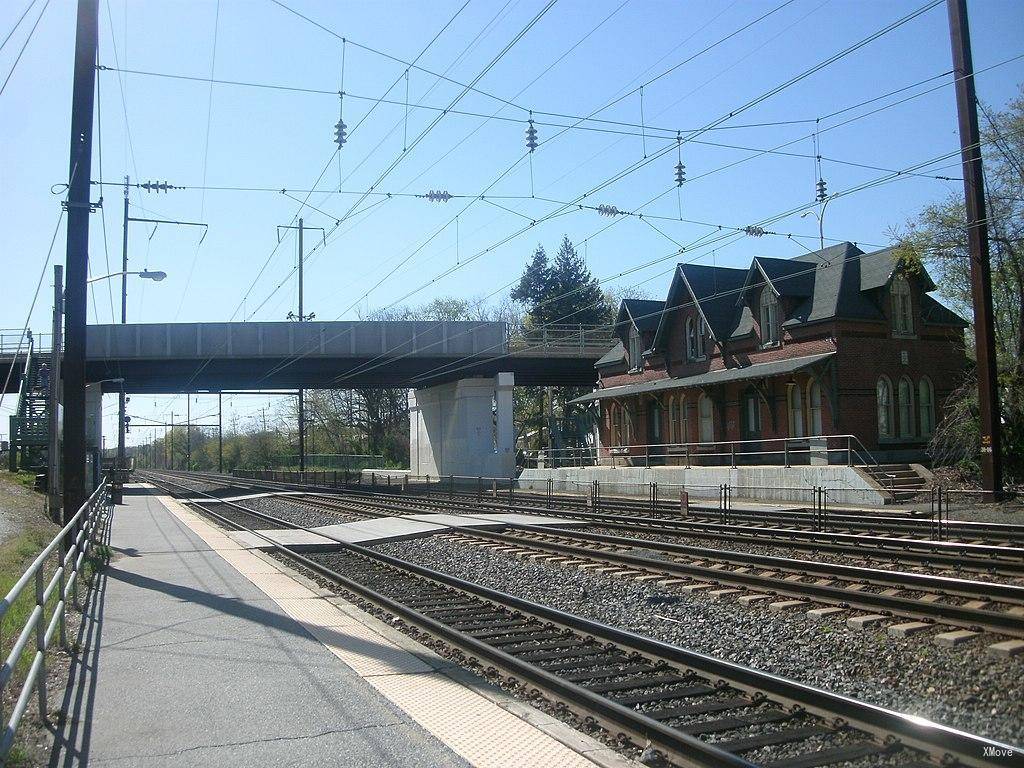
[[[967,366],[967,324],[934,290],[891,249],[851,243],[679,264],[664,302],[622,303],[598,388],[578,399],[599,404],[600,463],[845,463],[847,442],[861,460],[923,460]]]

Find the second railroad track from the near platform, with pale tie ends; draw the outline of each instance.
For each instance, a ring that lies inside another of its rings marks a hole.
[[[423,511],[419,505],[402,504],[402,500],[316,497],[309,501],[283,497],[278,501],[314,510],[330,509],[349,517]],[[272,517],[284,527],[296,525],[280,514]],[[597,564],[643,580],[662,577],[680,591],[700,590],[732,597],[745,592],[750,595],[748,601],[790,598],[818,606],[1024,637],[1024,587],[710,550],[587,530],[552,530],[519,523],[509,527],[512,532],[460,529],[450,536],[518,556],[549,555],[549,559],[563,564]]]

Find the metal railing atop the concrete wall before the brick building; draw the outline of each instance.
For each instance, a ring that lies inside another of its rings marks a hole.
[[[649,442],[542,449],[526,454],[529,468],[594,466],[732,467],[846,464],[879,466],[856,435],[763,437],[702,442]]]

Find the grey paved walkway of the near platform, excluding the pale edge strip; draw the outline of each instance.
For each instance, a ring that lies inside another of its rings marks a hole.
[[[51,765],[468,765],[154,494],[117,507]]]

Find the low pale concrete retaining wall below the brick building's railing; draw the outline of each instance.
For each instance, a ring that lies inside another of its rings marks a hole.
[[[770,502],[813,504],[811,488],[820,485],[828,490],[829,504],[882,506],[887,495],[865,472],[845,465],[806,467],[564,467],[525,469],[519,487],[545,490],[548,480],[553,489],[587,494],[598,480],[601,493],[613,496],[648,498],[650,483],[658,484],[663,499],[678,497],[684,489],[691,498],[718,499],[719,486],[728,483],[732,498]]]

